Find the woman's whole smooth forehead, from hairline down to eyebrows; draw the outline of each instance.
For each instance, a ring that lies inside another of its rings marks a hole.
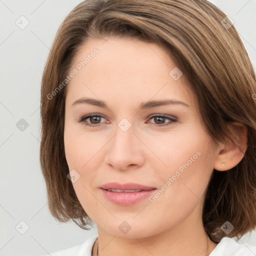
[[[169,95],[188,101],[191,93],[186,77],[173,79],[172,70],[181,71],[177,68],[156,43],[133,38],[89,39],[73,58],[70,70],[77,73],[68,83],[66,100],[96,96],[133,102]]]

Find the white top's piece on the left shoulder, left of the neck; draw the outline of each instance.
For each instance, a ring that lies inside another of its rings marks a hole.
[[[44,256],[91,256],[91,249],[96,239],[97,235],[87,239],[80,245],[75,245],[66,249],[58,250]]]

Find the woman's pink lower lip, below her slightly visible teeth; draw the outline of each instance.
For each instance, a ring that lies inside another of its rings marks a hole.
[[[131,193],[125,193],[125,192],[112,192],[107,191],[105,189],[102,189],[103,195],[106,199],[108,199],[110,202],[113,202],[115,204],[119,205],[132,205],[140,200],[145,199],[146,197],[149,197],[155,189],[151,190],[142,190],[139,192],[131,192]]]

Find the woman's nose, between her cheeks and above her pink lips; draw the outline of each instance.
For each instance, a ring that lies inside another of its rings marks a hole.
[[[143,165],[145,148],[135,133],[132,125],[127,130],[117,125],[115,135],[108,143],[106,164],[117,170],[135,169]]]

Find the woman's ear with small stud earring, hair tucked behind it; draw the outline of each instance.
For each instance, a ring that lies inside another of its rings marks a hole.
[[[229,170],[237,165],[243,158],[244,153],[247,149],[246,125],[240,122],[229,122],[227,126],[230,132],[236,137],[237,141],[239,142],[241,151],[239,150],[237,144],[229,139],[226,143],[220,143],[214,161],[214,169],[219,171]]]

